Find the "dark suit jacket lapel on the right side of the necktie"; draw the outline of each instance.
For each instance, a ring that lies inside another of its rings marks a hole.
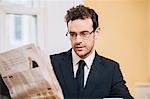
[[[101,59],[99,58],[98,54],[96,53],[95,59],[93,61],[85,89],[82,93],[82,96],[91,96],[92,92],[94,91],[96,84],[100,79],[100,74],[103,72],[103,65],[101,63]]]

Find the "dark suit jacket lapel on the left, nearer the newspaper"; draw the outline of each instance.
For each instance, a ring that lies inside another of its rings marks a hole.
[[[77,94],[77,87],[76,87],[76,82],[74,79],[74,73],[73,73],[73,63],[72,63],[72,54],[71,50],[67,53],[67,57],[63,57],[62,62],[61,62],[61,70],[62,70],[62,75],[64,78],[64,84],[67,88],[67,91],[70,95],[76,96]]]

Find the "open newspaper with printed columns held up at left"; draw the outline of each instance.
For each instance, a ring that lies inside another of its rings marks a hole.
[[[49,57],[34,44],[0,53],[0,74],[12,99],[63,99]]]

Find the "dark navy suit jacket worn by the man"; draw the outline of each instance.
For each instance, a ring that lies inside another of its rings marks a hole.
[[[78,98],[71,50],[51,55],[51,62],[65,98]],[[79,98],[123,97],[133,99],[123,80],[119,64],[96,53],[86,86]]]

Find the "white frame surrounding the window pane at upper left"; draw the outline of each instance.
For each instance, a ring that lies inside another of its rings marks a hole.
[[[37,3],[38,4],[38,3]],[[8,32],[6,26],[7,14],[18,15],[35,15],[37,17],[37,41],[36,44],[44,47],[44,7],[22,7],[19,5],[4,5],[0,3],[0,51],[8,50],[10,45],[8,43]]]

